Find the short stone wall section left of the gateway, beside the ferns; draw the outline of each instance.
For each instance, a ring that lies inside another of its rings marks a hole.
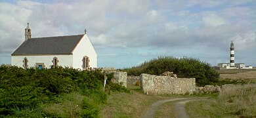
[[[126,71],[112,71],[114,72],[114,78],[111,79],[112,82],[122,84],[127,87],[127,72]]]

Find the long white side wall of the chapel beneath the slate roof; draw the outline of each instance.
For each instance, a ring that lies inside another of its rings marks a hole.
[[[45,68],[51,68],[53,65],[53,58],[58,58],[58,66],[62,67],[72,67],[73,56],[72,55],[47,55],[47,56],[12,56],[11,64],[12,66],[19,66],[23,68],[24,58],[28,59],[28,67],[35,68],[36,63],[44,63]]]

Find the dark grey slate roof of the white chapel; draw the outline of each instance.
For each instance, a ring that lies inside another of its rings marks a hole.
[[[72,54],[83,35],[31,38],[24,41],[11,55]]]

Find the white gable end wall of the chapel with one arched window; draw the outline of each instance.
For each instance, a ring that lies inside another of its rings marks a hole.
[[[89,57],[89,66],[90,68],[97,67],[97,54],[91,41],[85,34],[78,45],[73,50],[73,67],[82,69],[83,65],[83,56]]]

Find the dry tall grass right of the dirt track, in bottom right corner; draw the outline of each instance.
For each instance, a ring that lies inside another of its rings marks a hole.
[[[217,99],[190,102],[186,107],[190,117],[256,117],[255,98],[255,84],[234,85],[223,88]]]

